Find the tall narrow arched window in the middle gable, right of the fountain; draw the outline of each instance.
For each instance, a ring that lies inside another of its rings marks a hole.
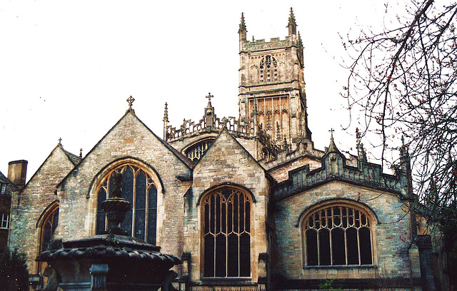
[[[251,196],[236,188],[205,195],[205,277],[251,276],[251,204]]]

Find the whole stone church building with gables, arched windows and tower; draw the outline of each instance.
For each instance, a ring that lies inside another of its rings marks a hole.
[[[250,41],[241,16],[238,118],[216,117],[209,94],[198,122],[171,126],[165,105],[158,136],[129,98],[84,157],[59,143],[11,196],[9,247],[26,252],[29,272],[44,270],[35,258],[49,242],[104,232],[100,205],[121,173],[122,227],[181,259],[180,290],[444,288],[443,256],[411,211],[407,149],[389,175],[359,136],[357,155],[333,135],[314,148],[296,26],[291,11],[285,39]]]

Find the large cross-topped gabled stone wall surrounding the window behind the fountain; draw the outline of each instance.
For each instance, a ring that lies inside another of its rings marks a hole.
[[[157,237],[161,251],[181,257],[184,194],[191,168],[132,111],[128,111],[59,185],[61,200],[58,236],[76,240],[95,235],[96,190],[99,182],[122,163],[134,163],[153,176],[157,188]]]

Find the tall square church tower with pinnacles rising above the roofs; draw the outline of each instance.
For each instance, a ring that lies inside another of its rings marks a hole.
[[[285,40],[246,40],[243,14],[238,30],[240,119],[250,123],[255,133],[265,131],[274,140],[294,146],[303,138],[311,140],[306,114],[303,44],[296,26],[291,9]]]

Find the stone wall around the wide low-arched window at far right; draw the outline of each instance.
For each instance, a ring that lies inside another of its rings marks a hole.
[[[378,220],[372,225],[373,267],[306,267],[301,215],[312,205],[331,199],[351,200],[373,210]],[[274,217],[276,240],[272,245],[278,249],[278,260],[273,270],[289,279],[411,277],[411,223],[406,211],[396,195],[340,181],[281,200]]]

